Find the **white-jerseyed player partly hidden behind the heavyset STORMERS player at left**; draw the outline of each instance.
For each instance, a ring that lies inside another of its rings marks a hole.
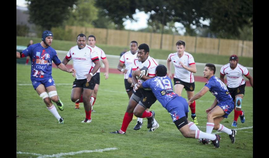
[[[95,45],[95,43],[96,43],[96,37],[94,35],[88,36],[87,44],[93,48],[92,50],[98,54],[99,60],[102,60],[102,62],[104,63],[104,65],[105,65],[104,76],[105,76],[105,79],[108,79],[108,76],[109,76],[108,75],[109,74],[108,60],[107,60],[107,58],[105,56],[105,52],[101,48],[97,47]],[[95,86],[94,86],[94,90],[92,92],[92,96],[91,96],[91,103],[92,103],[92,108],[93,108],[93,105],[94,105],[94,103],[96,101],[98,88],[99,88],[99,85],[100,85],[100,68],[97,70],[96,75],[94,75],[92,78],[95,79],[95,82],[96,82]],[[79,102],[75,103],[75,109],[79,109],[79,103],[83,102],[82,96],[83,95],[81,95]],[[95,111],[93,111],[93,112],[95,112]]]

